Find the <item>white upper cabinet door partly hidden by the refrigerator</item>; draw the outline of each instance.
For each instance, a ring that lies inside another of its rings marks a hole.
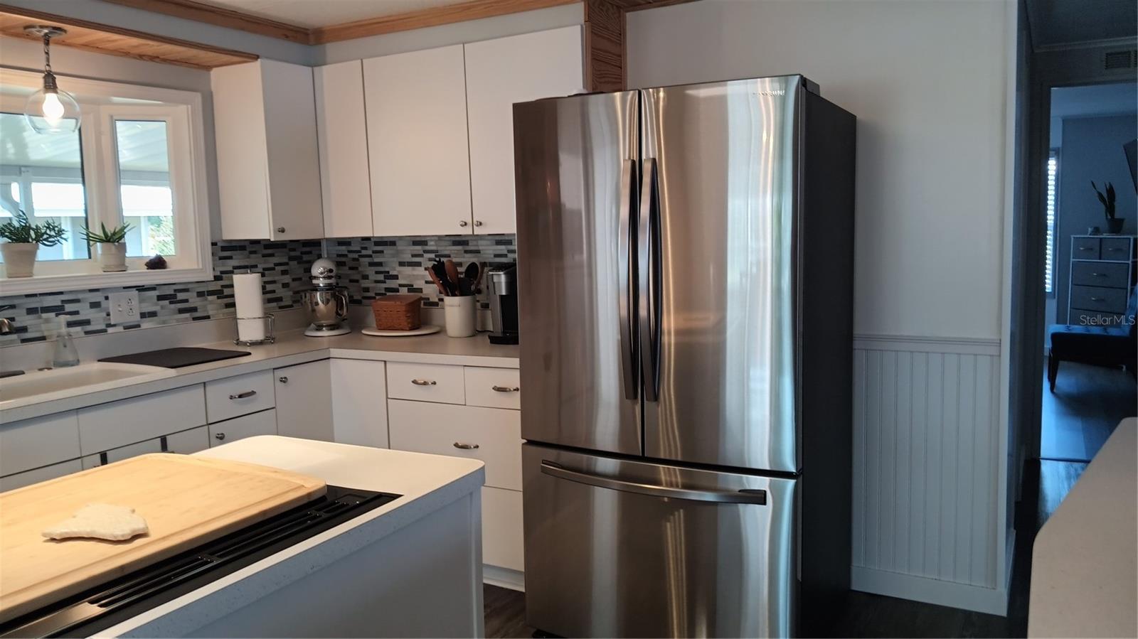
[[[513,233],[513,103],[583,89],[580,26],[472,42],[465,53],[475,233]]]

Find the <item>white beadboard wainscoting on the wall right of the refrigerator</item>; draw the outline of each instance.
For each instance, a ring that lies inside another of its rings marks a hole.
[[[855,590],[1005,614],[999,340],[853,340]]]

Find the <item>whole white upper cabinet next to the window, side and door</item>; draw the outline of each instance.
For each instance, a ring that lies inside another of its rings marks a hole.
[[[312,68],[257,60],[211,78],[222,238],[322,238]]]

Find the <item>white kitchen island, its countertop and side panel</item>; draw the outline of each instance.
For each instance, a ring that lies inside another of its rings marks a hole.
[[[401,495],[107,637],[479,637],[483,463],[284,437],[196,455]]]

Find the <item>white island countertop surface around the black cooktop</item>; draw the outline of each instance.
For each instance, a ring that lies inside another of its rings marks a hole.
[[[485,478],[477,459],[278,435],[242,439],[196,455],[403,497],[110,626],[100,637],[184,636],[479,490]]]

